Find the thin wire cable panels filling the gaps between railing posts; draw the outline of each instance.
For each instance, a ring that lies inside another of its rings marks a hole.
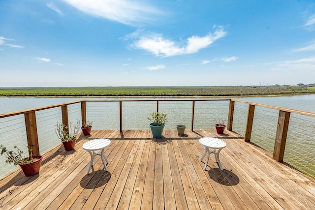
[[[169,116],[166,129],[176,129],[176,124],[185,124],[188,128],[191,126],[192,101],[158,101],[158,103],[157,101],[122,101],[123,129],[149,129],[147,117],[151,112],[157,110],[157,105],[159,112],[167,113]],[[70,123],[78,119],[82,120],[80,103],[67,105],[67,108]],[[245,134],[247,120],[244,116],[247,116],[248,108],[248,104],[235,103],[233,131]],[[228,111],[228,100],[195,101],[194,129],[214,128],[215,119],[227,120]],[[251,142],[271,153],[275,144],[278,115],[277,109],[255,106]],[[120,102],[87,101],[86,118],[93,121],[93,129],[119,129]],[[55,124],[58,121],[62,122],[61,108],[36,111],[36,120],[40,152],[51,147],[47,146],[47,139],[52,144],[60,144],[60,140],[55,134]],[[312,159],[315,159],[315,139],[314,135],[308,134],[308,131],[314,129],[314,121],[314,117],[291,113],[284,154],[285,162],[313,177],[315,164]],[[4,135],[0,137],[0,143],[4,141],[4,138],[27,145],[23,115],[7,117],[5,121],[0,119],[0,124],[4,125],[1,128]],[[13,124],[13,128],[9,128],[8,124]],[[302,127],[302,125],[305,126]],[[17,137],[14,136],[16,134]],[[13,146],[13,143],[9,143],[8,146]]]

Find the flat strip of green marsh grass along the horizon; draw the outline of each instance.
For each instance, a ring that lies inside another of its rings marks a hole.
[[[0,96],[238,96],[315,93],[291,86],[0,88]]]

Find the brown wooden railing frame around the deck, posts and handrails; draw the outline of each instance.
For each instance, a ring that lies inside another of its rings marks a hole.
[[[81,104],[81,120],[82,122],[87,120],[86,112],[87,107],[86,103],[98,103],[98,102],[119,102],[119,118],[120,118],[120,131],[123,130],[123,102],[142,102],[142,101],[156,101],[157,102],[157,109],[156,111],[159,111],[159,102],[161,101],[172,101],[172,102],[179,102],[179,101],[191,101],[191,130],[194,129],[194,119],[195,119],[195,102],[196,101],[227,101],[229,102],[229,111],[227,117],[227,129],[229,131],[232,131],[233,127],[233,117],[234,117],[234,107],[235,103],[242,103],[242,104],[248,104],[248,115],[247,118],[244,117],[244,119],[247,119],[246,121],[246,130],[245,130],[245,136],[244,141],[250,142],[251,136],[252,136],[252,125],[254,120],[254,113],[255,113],[255,107],[264,107],[268,109],[273,110],[279,110],[279,117],[278,117],[278,123],[277,123],[277,132],[275,136],[274,141],[274,151],[273,151],[273,158],[279,162],[283,162],[284,160],[284,150],[285,150],[285,143],[286,143],[286,137],[288,132],[288,125],[290,121],[290,114],[295,113],[298,115],[305,115],[310,117],[315,117],[315,113],[311,112],[304,112],[294,109],[287,109],[282,107],[276,107],[271,105],[264,105],[264,104],[258,104],[253,102],[247,102],[247,101],[241,101],[241,100],[235,100],[235,99],[180,99],[180,100],[173,100],[173,99],[164,99],[164,100],[80,100],[80,101],[73,101],[70,103],[63,103],[63,104],[57,104],[57,105],[51,105],[46,107],[40,107],[40,108],[34,108],[29,110],[23,110],[18,112],[11,112],[6,114],[0,114],[1,118],[7,118],[15,115],[21,115],[24,114],[25,118],[25,128],[27,133],[27,141],[28,146],[32,148],[33,154],[39,154],[39,147],[38,144],[38,135],[37,135],[37,124],[36,124],[36,111],[40,110],[46,110],[46,109],[52,109],[56,107],[61,107],[62,111],[62,122],[63,124],[67,125],[69,124],[68,120],[68,109],[67,106],[70,104]]]

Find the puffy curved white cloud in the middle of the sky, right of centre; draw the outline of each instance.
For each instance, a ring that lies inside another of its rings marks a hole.
[[[126,37],[138,39],[132,44],[133,48],[146,50],[156,56],[168,57],[197,53],[200,49],[209,47],[217,39],[224,37],[226,33],[223,28],[220,28],[213,34],[209,33],[203,37],[191,36],[184,44],[165,39],[162,34],[157,33],[140,34],[140,31],[136,31]]]

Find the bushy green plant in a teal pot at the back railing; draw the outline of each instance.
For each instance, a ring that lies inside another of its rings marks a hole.
[[[150,128],[152,131],[153,138],[161,138],[165,122],[167,122],[167,114],[153,112],[150,115],[151,118],[148,117],[147,119],[151,121]]]

